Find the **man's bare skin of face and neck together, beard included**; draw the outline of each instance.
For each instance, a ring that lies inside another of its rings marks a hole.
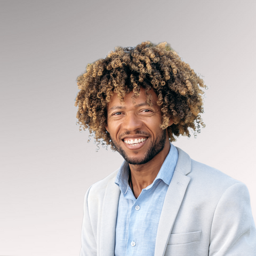
[[[138,98],[131,92],[123,102],[114,94],[107,107],[106,130],[115,149],[129,163],[135,197],[154,181],[170,150],[167,129],[160,127],[163,115],[157,105],[158,97],[153,89],[148,93],[151,106],[147,104],[145,90],[141,89]],[[169,125],[172,123],[170,119]],[[131,139],[147,140],[135,146],[125,143]]]

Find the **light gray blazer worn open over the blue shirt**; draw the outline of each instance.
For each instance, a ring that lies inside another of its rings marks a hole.
[[[178,151],[159,220],[155,255],[256,256],[256,230],[246,186]],[[81,256],[114,255],[120,195],[114,182],[117,171],[87,190]]]

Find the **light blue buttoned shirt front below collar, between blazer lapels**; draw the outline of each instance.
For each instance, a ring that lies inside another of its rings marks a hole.
[[[154,255],[159,219],[168,186],[164,182],[142,190],[135,199],[130,190],[118,202],[115,255]]]

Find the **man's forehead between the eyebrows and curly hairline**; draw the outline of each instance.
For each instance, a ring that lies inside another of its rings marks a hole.
[[[153,103],[153,105],[156,105],[158,97],[153,89],[148,91],[147,94],[145,92],[145,89],[140,89],[140,95],[138,98],[134,97],[134,92],[130,92],[129,94],[125,95],[124,102],[121,102],[117,97],[117,93],[114,93],[114,95],[112,95],[110,98],[110,102],[108,103],[108,109],[113,108],[115,106],[126,107],[145,103],[148,97],[150,101]]]

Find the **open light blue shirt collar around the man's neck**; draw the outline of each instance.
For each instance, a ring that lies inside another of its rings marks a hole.
[[[153,181],[151,185],[149,185],[146,189],[151,188],[155,185],[157,180],[163,180],[166,185],[170,185],[170,182],[172,180],[173,172],[175,170],[175,167],[178,162],[178,150],[175,148],[172,143],[170,143],[170,150],[168,155],[166,156],[163,165],[161,166],[161,169],[159,170],[157,177]],[[119,186],[121,192],[125,195],[127,193],[127,190],[129,188],[128,184],[128,178],[129,178],[129,164],[124,161],[121,165],[117,175],[115,183],[117,186]]]

